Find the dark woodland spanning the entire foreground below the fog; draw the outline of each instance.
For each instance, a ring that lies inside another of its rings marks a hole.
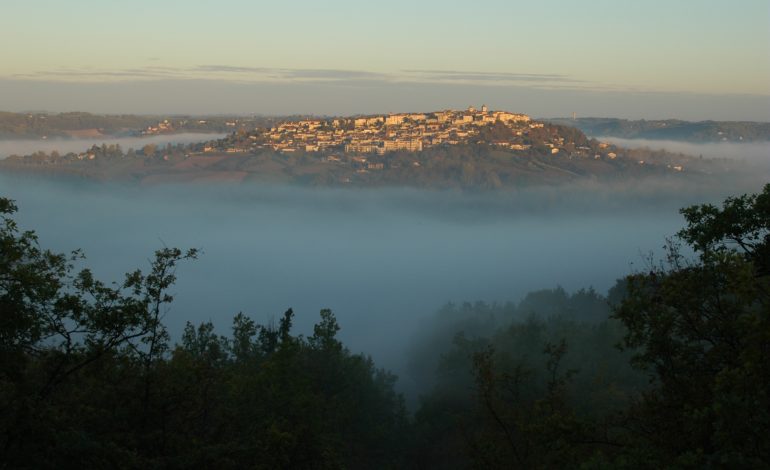
[[[0,199],[4,468],[770,467],[770,185],[683,209],[667,258],[607,296],[444,306],[411,350],[414,410],[329,310],[309,336],[289,309],[172,341],[195,250],[107,284],[15,211]]]

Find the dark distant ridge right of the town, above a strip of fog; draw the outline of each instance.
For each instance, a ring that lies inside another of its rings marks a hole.
[[[770,123],[749,121],[627,120],[616,118],[554,118],[546,122],[572,126],[592,137],[678,140],[686,142],[767,142]]]

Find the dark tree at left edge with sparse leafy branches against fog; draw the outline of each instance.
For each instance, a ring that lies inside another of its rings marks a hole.
[[[34,232],[20,232],[10,217],[16,210],[0,198],[0,448],[11,465],[66,432],[57,403],[85,371],[116,358],[158,358],[168,340],[166,289],[177,263],[196,257],[165,248],[149,275],[135,271],[108,286],[88,269],[75,271],[80,252],[53,253]]]

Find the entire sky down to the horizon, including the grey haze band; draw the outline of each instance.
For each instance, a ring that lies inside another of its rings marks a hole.
[[[3,0],[0,110],[770,121],[767,0]]]

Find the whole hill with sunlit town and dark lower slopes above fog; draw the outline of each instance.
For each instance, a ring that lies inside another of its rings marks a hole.
[[[127,152],[118,145],[64,155],[36,152],[0,160],[0,170],[143,183],[265,181],[435,188],[501,188],[580,178],[720,171],[685,155],[626,149],[589,139],[573,127],[486,106],[271,118],[250,127],[236,120],[232,123],[233,132],[208,142],[147,144]]]

